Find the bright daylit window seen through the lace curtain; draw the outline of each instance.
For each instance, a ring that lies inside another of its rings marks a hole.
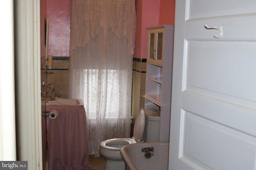
[[[106,100],[106,118],[118,117],[118,75],[118,70],[84,70],[84,107],[86,110],[90,107],[89,118],[96,118],[98,95],[103,95]],[[100,93],[97,88],[101,88]]]

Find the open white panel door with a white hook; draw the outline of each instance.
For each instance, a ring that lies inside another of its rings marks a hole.
[[[256,170],[256,0],[176,0],[169,170]]]

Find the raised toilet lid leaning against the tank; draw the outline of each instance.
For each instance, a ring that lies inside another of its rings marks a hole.
[[[136,142],[140,142],[143,131],[145,127],[145,112],[144,109],[140,108],[140,111],[137,113],[135,124],[134,124],[134,131],[133,131],[133,138]]]

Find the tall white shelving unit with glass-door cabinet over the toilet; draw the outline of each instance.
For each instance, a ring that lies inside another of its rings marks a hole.
[[[159,111],[159,141],[169,142],[174,26],[160,25],[147,29],[145,110],[157,109]]]

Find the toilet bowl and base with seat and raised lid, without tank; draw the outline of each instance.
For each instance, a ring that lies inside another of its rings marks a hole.
[[[100,155],[106,159],[104,170],[125,170],[126,165],[120,154],[120,150],[125,145],[139,143],[145,127],[145,113],[141,108],[138,112],[134,124],[132,138],[107,139],[100,143]]]

